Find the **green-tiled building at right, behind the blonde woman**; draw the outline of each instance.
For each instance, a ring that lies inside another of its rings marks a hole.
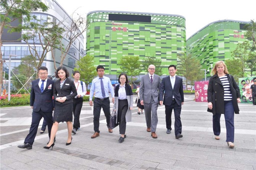
[[[238,43],[243,43],[246,38],[244,34],[245,24],[250,22],[220,20],[215,21],[200,29],[189,37],[186,41],[188,53],[196,56],[202,69],[209,70],[207,77],[210,76],[211,67],[217,61],[230,59],[232,51]]]

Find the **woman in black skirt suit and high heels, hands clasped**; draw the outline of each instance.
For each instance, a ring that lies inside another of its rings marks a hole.
[[[65,67],[58,67],[56,77],[60,79],[54,83],[53,88],[53,97],[56,100],[53,113],[53,125],[50,141],[47,146],[44,146],[45,149],[49,149],[51,147],[53,148],[54,138],[60,122],[66,122],[68,126],[68,141],[66,145],[71,144],[72,141],[71,132],[73,128],[73,98],[75,98],[77,92],[74,82],[68,79],[68,76],[69,73]]]

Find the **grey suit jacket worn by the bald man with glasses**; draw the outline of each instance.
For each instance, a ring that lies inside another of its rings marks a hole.
[[[144,103],[151,102],[151,96],[156,103],[159,103],[159,91],[161,87],[160,76],[154,74],[153,82],[151,84],[149,74],[141,77],[141,85],[139,87],[139,97]]]

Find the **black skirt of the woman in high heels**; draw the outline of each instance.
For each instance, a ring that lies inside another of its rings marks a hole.
[[[53,112],[54,122],[73,122],[73,103],[55,104]]]

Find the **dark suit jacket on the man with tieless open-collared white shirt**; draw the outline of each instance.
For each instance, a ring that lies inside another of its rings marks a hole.
[[[163,101],[163,96],[164,105],[170,106],[172,104],[172,96],[174,96],[178,105],[181,106],[181,102],[184,102],[182,79],[178,76],[175,76],[175,83],[173,89],[170,76],[164,77],[161,83],[159,101]]]

